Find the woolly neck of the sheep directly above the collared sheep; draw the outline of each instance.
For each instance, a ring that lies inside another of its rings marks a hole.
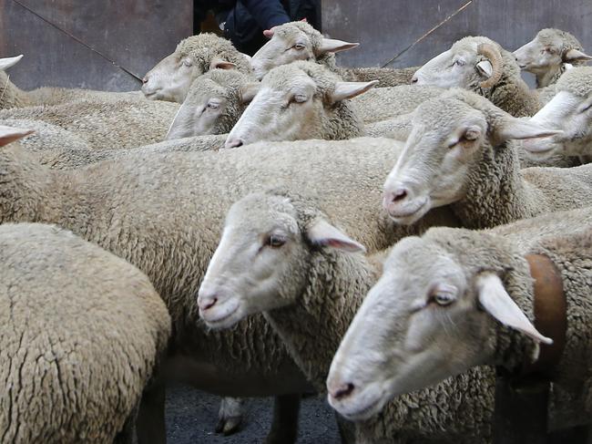
[[[520,161],[507,143],[485,145],[466,180],[466,193],[453,204],[466,228],[491,228],[536,215],[533,191],[520,175]]]

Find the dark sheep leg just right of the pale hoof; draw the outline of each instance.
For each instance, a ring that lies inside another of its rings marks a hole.
[[[273,418],[265,444],[293,444],[298,438],[301,395],[282,395],[273,401]]]

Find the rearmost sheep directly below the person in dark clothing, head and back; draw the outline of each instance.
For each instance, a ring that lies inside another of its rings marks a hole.
[[[275,26],[264,33],[270,41],[260,48],[250,63],[257,78],[262,79],[273,67],[288,65],[296,60],[315,60],[350,82],[378,80],[379,87],[409,85],[418,67],[401,69],[383,67],[337,67],[334,53],[352,49],[358,43],[327,38],[306,22],[291,22]]]

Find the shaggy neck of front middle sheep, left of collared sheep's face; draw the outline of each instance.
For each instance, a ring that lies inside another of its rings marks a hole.
[[[359,254],[313,253],[298,300],[264,313],[306,377],[323,392],[332,357],[377,273]]]

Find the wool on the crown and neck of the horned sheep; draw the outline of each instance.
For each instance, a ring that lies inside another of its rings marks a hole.
[[[467,85],[467,89],[475,91],[477,94],[488,98],[498,108],[515,117],[527,117],[536,114],[540,108],[538,95],[526,85],[526,82],[520,77],[520,67],[515,61],[511,52],[506,51],[502,46],[495,43],[490,38],[483,36],[468,36],[461,38],[451,47],[453,52],[467,51],[475,53],[475,45],[489,43],[499,49],[504,66],[502,67],[502,77],[491,88],[480,88],[481,79],[475,77],[475,82]],[[485,56],[482,56],[485,60]]]

